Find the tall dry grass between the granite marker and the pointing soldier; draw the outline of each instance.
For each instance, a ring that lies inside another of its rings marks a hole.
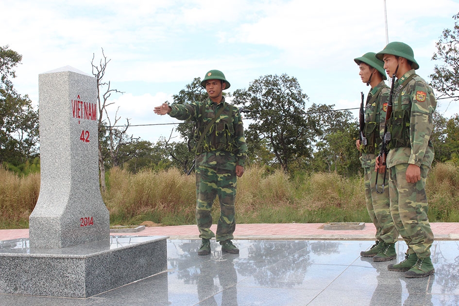
[[[132,174],[114,168],[109,171],[108,181],[102,197],[112,223],[135,224],[145,220],[170,225],[193,223],[194,175],[183,175],[177,169]]]

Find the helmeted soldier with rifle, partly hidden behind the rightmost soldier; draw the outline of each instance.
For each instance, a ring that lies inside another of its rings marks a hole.
[[[354,61],[359,67],[358,74],[362,82],[371,86],[365,105],[363,139],[366,139],[366,145],[358,139],[356,146],[357,150],[362,153],[360,162],[364,169],[367,210],[376,227],[376,243],[370,250],[360,252],[360,256],[373,257],[374,261],[387,261],[397,257],[395,242],[398,238],[398,231],[391,217],[389,189],[385,188],[382,193],[378,193],[372,186],[376,181],[374,165],[384,135],[390,88],[384,83],[384,80],[387,79],[386,71],[383,68],[384,62],[377,59],[374,52],[365,53],[355,58]],[[379,173],[385,171],[386,167],[380,167]]]

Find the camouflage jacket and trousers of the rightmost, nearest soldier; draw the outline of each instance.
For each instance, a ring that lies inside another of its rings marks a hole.
[[[437,101],[432,88],[415,74],[414,69],[406,72],[396,85],[388,124],[391,132],[387,156],[391,215],[408,245],[407,253],[414,252],[418,258],[426,258],[430,256],[433,234],[427,218],[425,180],[434,158],[430,135]],[[420,167],[421,180],[415,184],[406,181],[408,164]]]

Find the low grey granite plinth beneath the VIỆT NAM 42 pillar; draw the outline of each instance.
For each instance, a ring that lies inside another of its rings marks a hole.
[[[167,237],[111,237],[61,249],[0,244],[0,293],[87,298],[167,269]]]

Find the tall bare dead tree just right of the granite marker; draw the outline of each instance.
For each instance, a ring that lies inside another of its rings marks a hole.
[[[124,92],[122,91],[119,91],[118,89],[111,89],[110,88],[110,81],[105,82],[105,81],[102,81],[104,75],[105,75],[105,69],[107,68],[107,65],[108,63],[110,62],[110,59],[107,59],[107,57],[105,56],[104,52],[103,52],[103,48],[102,48],[102,57],[103,59],[101,59],[99,65],[97,65],[95,62],[94,62],[94,59],[95,59],[95,55],[93,53],[92,55],[92,61],[91,61],[91,65],[92,65],[92,74],[96,77],[96,80],[97,80],[97,102],[98,102],[98,106],[99,106],[99,121],[98,121],[98,129],[99,129],[99,135],[101,135],[101,132],[102,131],[102,120],[103,120],[103,113],[105,112],[105,114],[107,114],[107,111],[106,111],[106,107],[111,105],[111,104],[114,104],[114,102],[107,102],[108,98],[110,98],[111,94],[112,93],[120,93],[120,94],[123,94]],[[105,91],[102,93],[103,89],[102,87],[106,87]],[[107,115],[107,118],[108,118],[108,115]],[[129,122],[126,126],[126,130],[127,130],[127,127],[129,126]],[[103,156],[102,156],[102,146],[101,146],[101,141],[99,140],[99,170],[100,170],[100,180],[101,180],[101,187],[102,187],[102,191],[105,191],[106,189],[106,186],[105,186],[105,167],[104,167],[104,160],[103,160]]]

